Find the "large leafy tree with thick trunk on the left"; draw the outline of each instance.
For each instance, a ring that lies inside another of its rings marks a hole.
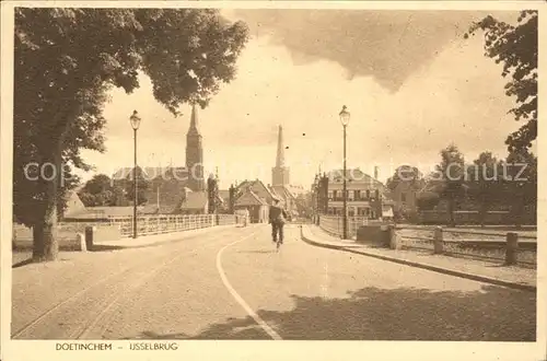
[[[205,107],[235,77],[246,38],[209,9],[15,9],[13,211],[33,228],[35,260],[57,258],[65,164],[85,170],[80,150],[104,151],[109,90],[130,93],[142,72],[174,115]],[[48,177],[31,179],[30,163]]]

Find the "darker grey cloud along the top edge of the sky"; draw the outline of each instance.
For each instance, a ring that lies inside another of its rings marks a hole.
[[[427,67],[442,49],[462,37],[477,11],[393,10],[236,10],[255,36],[286,46],[295,65],[331,60],[348,79],[372,75],[397,91],[410,74]],[[514,12],[496,12],[516,19]]]

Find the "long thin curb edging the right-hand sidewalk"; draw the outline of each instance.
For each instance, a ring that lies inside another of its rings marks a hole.
[[[345,246],[338,246],[338,245],[331,245],[331,244],[325,244],[325,243],[316,242],[316,241],[311,240],[310,237],[306,237],[304,235],[304,230],[303,229],[301,230],[301,238],[305,243],[311,244],[313,246],[318,246],[318,247],[323,247],[323,248],[329,248],[329,249],[337,249],[337,251],[349,252],[349,253],[353,253],[353,254],[358,254],[358,255],[363,255],[363,256],[369,256],[369,257],[373,257],[373,258],[377,258],[377,259],[382,259],[382,260],[392,261],[392,263],[395,263],[395,264],[400,264],[400,265],[406,265],[406,266],[422,268],[422,269],[435,271],[435,272],[439,272],[439,273],[455,276],[455,277],[459,277],[459,278],[466,278],[466,279],[469,279],[469,280],[474,280],[474,281],[480,281],[480,282],[485,282],[485,283],[491,283],[491,284],[496,284],[496,286],[502,286],[502,287],[507,287],[507,288],[511,288],[511,289],[516,289],[516,290],[522,290],[522,291],[529,291],[529,292],[536,292],[537,291],[537,287],[536,286],[516,283],[516,282],[511,282],[511,281],[504,281],[504,280],[500,280],[500,279],[491,278],[491,277],[487,277],[487,276],[479,276],[479,275],[474,275],[474,273],[467,273],[467,272],[457,271],[457,270],[453,270],[453,269],[447,269],[447,268],[443,268],[443,267],[439,267],[439,266],[420,264],[420,263],[417,263],[417,261],[411,261],[411,260],[406,260],[406,259],[400,259],[400,258],[395,258],[395,257],[389,257],[389,256],[381,256],[381,255],[376,255],[376,254],[372,254],[372,253],[368,253],[368,252],[351,249],[351,248],[348,248],[348,247],[345,247]]]

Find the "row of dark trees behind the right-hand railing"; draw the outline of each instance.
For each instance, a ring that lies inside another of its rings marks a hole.
[[[532,152],[512,152],[500,160],[485,151],[469,163],[455,144],[450,144],[440,155],[435,170],[426,175],[417,167],[399,166],[387,180],[387,187],[395,191],[406,182],[416,193],[418,210],[444,206],[452,225],[456,223],[457,209],[478,210],[481,224],[488,211],[509,210],[517,225],[526,209],[535,210],[537,156]]]

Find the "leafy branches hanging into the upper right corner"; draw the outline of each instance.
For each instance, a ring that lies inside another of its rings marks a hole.
[[[527,10],[516,25],[487,16],[469,30],[469,34],[484,31],[486,56],[503,65],[502,75],[509,78],[505,93],[516,97],[510,113],[525,120],[505,141],[510,152],[529,149],[537,138],[537,11]]]

